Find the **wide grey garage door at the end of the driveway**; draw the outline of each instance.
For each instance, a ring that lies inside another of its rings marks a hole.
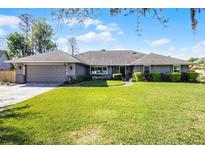
[[[59,83],[65,80],[65,66],[27,66],[27,82]]]

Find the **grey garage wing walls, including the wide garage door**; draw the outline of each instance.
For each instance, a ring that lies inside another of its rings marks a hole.
[[[17,64],[16,82],[64,82],[77,75],[86,75],[88,70],[87,66],[75,63]]]

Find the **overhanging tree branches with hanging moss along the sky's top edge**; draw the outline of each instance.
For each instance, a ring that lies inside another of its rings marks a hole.
[[[116,15],[135,15],[136,16],[136,30],[138,34],[141,32],[140,27],[140,19],[142,17],[150,16],[151,19],[158,21],[163,27],[167,27],[166,23],[168,22],[168,18],[163,16],[164,9],[154,9],[154,8],[110,8],[109,14],[111,16]],[[191,28],[195,31],[198,21],[196,19],[197,15],[204,11],[204,9],[200,8],[191,8],[190,9],[190,19],[191,19]],[[76,18],[78,19],[79,23],[84,23],[88,18],[94,18],[99,14],[99,9],[79,9],[79,8],[72,8],[72,9],[53,9],[52,16],[58,21],[65,21],[67,19]],[[67,20],[71,21],[71,20]],[[69,23],[69,22],[68,22]]]

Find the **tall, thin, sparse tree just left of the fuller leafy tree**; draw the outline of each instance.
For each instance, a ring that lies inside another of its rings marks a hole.
[[[19,22],[19,28],[24,32],[23,34],[25,35],[25,52],[27,55],[32,54],[32,43],[31,43],[31,36],[30,32],[32,29],[32,22],[33,22],[33,17],[32,15],[28,13],[23,13],[19,16],[20,22]]]

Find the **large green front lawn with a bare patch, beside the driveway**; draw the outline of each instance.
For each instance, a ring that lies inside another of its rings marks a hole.
[[[59,87],[1,111],[0,144],[205,144],[205,85]]]

